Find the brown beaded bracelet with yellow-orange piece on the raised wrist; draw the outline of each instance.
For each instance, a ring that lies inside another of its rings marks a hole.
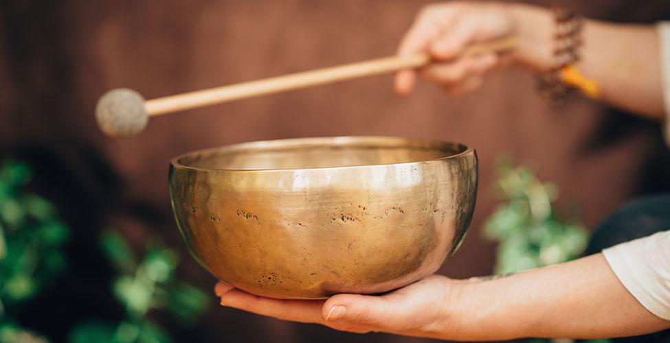
[[[556,23],[554,67],[548,73],[538,76],[537,90],[552,104],[563,102],[574,89],[579,89],[592,98],[599,97],[599,85],[585,78],[574,66],[579,62],[579,48],[583,43],[581,40],[582,16],[557,7],[552,8],[552,12]]]

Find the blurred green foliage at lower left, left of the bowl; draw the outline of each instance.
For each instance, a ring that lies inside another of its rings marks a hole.
[[[63,246],[70,237],[56,209],[26,191],[30,168],[8,161],[0,164],[0,343],[43,343],[46,338],[16,322],[21,305],[52,285],[65,268]],[[70,331],[68,342],[168,343],[168,333],[147,318],[152,309],[166,309],[184,324],[204,311],[208,297],[175,279],[177,254],[158,240],[139,261],[125,239],[112,230],[100,237],[118,276],[112,291],[126,309],[119,322],[89,321]]]

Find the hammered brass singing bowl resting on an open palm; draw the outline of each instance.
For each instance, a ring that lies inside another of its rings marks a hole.
[[[474,150],[442,141],[258,141],[170,165],[194,258],[272,298],[375,294],[433,274],[465,236],[476,192]]]

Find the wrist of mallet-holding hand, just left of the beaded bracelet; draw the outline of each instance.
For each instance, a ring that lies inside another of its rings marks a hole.
[[[553,45],[555,23],[552,12],[546,8],[520,3],[506,5],[517,38],[514,59],[535,71],[554,67]]]

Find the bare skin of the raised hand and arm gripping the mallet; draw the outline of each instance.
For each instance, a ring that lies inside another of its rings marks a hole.
[[[554,19],[544,8],[521,4],[447,2],[428,5],[416,17],[399,46],[399,55],[427,52],[431,67],[397,74],[395,89],[406,95],[418,74],[451,95],[481,86],[490,71],[517,63],[533,71],[552,65]],[[508,56],[484,54],[458,58],[472,43],[517,37]],[[658,35],[650,25],[585,21],[579,70],[601,87],[601,100],[638,115],[661,119],[664,113]]]

